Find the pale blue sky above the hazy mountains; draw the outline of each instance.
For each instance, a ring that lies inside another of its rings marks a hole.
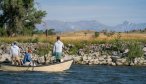
[[[44,20],[96,20],[114,26],[124,21],[146,23],[146,0],[36,0]]]

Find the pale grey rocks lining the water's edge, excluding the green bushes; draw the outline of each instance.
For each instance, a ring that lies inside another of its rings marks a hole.
[[[43,56],[39,56],[35,53],[35,50],[38,48],[38,46],[46,46],[47,43],[19,43],[19,47],[22,51],[25,51],[27,47],[31,47],[32,51],[32,57],[33,60],[37,60],[39,63],[50,63],[54,57],[52,57],[52,52],[48,51],[48,54],[45,54]],[[90,45],[86,46],[85,49],[79,49],[77,51],[77,54],[75,55],[69,55],[69,49],[73,47],[73,45],[69,44],[65,47],[65,52],[63,53],[63,59],[67,60],[70,58],[74,59],[74,64],[98,64],[98,65],[111,65],[111,66],[146,66],[146,57],[135,57],[132,61],[129,61],[127,59],[127,56],[125,55],[127,49],[123,51],[122,53],[118,53],[116,51],[109,52],[107,50],[103,51],[100,50],[100,45]],[[9,54],[11,44],[3,43],[0,45],[0,62],[5,61],[6,59],[11,61],[11,56]],[[50,44],[50,48],[52,45]],[[88,48],[87,48],[88,47]],[[51,49],[50,49],[51,50]],[[86,51],[86,52],[85,52]],[[87,53],[88,52],[88,53]],[[110,54],[109,54],[110,53]],[[111,54],[112,53],[112,54]],[[118,54],[117,54],[118,53]],[[23,58],[23,53],[21,53],[21,58]]]

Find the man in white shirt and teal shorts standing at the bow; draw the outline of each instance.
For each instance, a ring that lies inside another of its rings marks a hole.
[[[64,44],[60,41],[60,36],[57,36],[57,41],[54,43],[53,55],[56,58],[56,62],[61,62],[62,49]]]

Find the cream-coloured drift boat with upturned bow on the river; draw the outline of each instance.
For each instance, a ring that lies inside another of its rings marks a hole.
[[[61,72],[70,69],[73,59],[60,63],[39,65],[39,66],[16,66],[10,64],[1,64],[3,71],[42,71],[42,72]]]

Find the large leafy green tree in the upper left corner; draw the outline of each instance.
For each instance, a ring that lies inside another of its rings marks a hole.
[[[0,27],[3,28],[6,24],[9,36],[31,34],[35,29],[35,24],[41,23],[46,15],[45,11],[36,9],[34,5],[34,0],[1,0]]]

